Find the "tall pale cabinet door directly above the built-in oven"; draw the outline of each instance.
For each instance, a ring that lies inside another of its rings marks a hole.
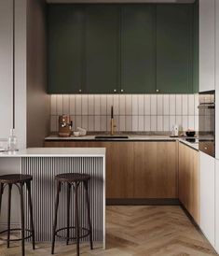
[[[199,92],[215,89],[215,0],[199,0]]]

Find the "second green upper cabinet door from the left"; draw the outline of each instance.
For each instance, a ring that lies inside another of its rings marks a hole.
[[[119,88],[119,6],[86,6],[85,88],[113,93]]]

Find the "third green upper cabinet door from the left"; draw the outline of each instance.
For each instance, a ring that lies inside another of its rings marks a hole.
[[[156,6],[124,5],[121,11],[121,89],[156,92]]]

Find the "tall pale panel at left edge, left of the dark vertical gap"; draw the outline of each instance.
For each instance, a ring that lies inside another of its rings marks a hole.
[[[13,2],[0,1],[0,138],[12,128]]]

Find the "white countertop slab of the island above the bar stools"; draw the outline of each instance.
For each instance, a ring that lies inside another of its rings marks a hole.
[[[103,157],[104,148],[30,148],[0,152],[0,157]]]

